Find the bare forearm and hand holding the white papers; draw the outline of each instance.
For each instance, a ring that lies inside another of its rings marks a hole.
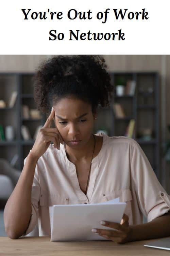
[[[101,225],[111,229],[92,229],[106,239],[119,244],[137,240],[148,240],[170,236],[170,211],[149,223],[129,226],[129,217],[123,214],[121,223],[101,221]]]

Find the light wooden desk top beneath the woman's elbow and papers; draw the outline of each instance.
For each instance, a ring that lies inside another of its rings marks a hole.
[[[116,244],[112,241],[51,242],[50,237],[20,237],[15,240],[0,237],[0,255],[170,255],[170,251],[143,246],[146,241]]]

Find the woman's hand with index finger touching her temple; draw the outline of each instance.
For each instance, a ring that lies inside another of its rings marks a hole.
[[[52,108],[51,114],[47,118],[43,128],[38,131],[36,140],[30,152],[35,158],[39,158],[46,152],[51,141],[54,143],[54,147],[56,147],[58,150],[60,150],[60,143],[64,144],[63,138],[58,129],[50,128],[54,115],[55,111]]]

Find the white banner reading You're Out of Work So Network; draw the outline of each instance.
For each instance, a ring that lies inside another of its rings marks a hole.
[[[0,3],[0,54],[169,54],[169,1]]]

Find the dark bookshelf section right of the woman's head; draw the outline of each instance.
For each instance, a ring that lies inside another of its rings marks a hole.
[[[159,85],[157,72],[115,72],[111,73],[115,84],[117,76],[122,76],[126,81],[136,82],[133,96],[114,94],[111,105],[120,103],[126,112],[126,117],[117,118],[111,106],[112,127],[110,136],[122,136],[130,119],[135,120],[135,132],[132,137],[147,155],[151,166],[160,180],[160,138],[159,138]],[[150,139],[141,136],[143,129],[150,129]]]

